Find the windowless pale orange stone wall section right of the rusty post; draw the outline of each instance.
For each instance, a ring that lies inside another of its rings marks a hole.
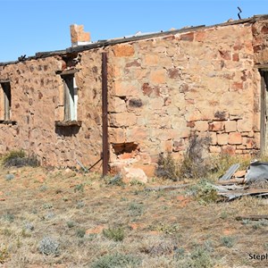
[[[152,173],[159,153],[180,157],[194,132],[211,138],[212,154],[258,151],[254,46],[249,23],[113,46],[110,141],[138,144],[132,153],[114,152],[114,168],[131,163]]]

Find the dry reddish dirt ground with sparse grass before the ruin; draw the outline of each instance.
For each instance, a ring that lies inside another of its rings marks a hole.
[[[268,221],[236,220],[268,214],[267,199],[204,204],[192,186],[146,190],[171,180],[116,184],[70,169],[1,168],[0,267],[268,267],[257,259],[268,255]]]

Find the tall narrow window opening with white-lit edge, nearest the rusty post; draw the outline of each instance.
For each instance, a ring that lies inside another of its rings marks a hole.
[[[78,88],[74,74],[62,75],[64,85],[64,121],[77,121]]]

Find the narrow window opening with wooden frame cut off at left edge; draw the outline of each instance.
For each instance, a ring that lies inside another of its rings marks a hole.
[[[4,121],[9,121],[11,118],[11,87],[10,82],[1,82],[1,110],[2,110],[2,119]]]

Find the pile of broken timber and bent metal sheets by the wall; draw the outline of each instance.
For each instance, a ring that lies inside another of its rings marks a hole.
[[[247,171],[238,171],[239,163],[230,169],[212,185],[219,196],[232,200],[242,196],[268,196],[268,163],[251,162]]]

